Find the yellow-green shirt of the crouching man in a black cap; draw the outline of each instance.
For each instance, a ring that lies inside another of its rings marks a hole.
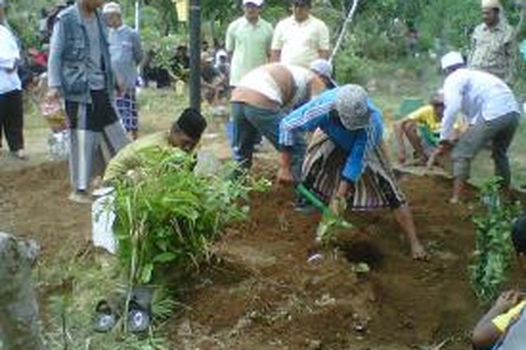
[[[173,148],[168,143],[168,132],[157,132],[128,144],[109,161],[104,172],[104,182],[112,181],[119,176],[126,175],[130,170],[133,170],[142,165],[142,158],[140,153],[149,148],[159,148],[162,151],[166,148]]]

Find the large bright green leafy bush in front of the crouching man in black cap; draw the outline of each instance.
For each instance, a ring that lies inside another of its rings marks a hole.
[[[167,269],[182,273],[208,257],[224,225],[245,218],[257,184],[234,179],[231,166],[197,176],[194,158],[182,152],[142,158],[134,180],[116,186],[119,260],[132,283],[159,283]]]

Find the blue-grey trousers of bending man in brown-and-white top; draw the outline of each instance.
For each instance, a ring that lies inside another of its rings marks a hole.
[[[279,123],[283,113],[270,109],[260,109],[243,102],[232,102],[232,117],[234,118],[234,159],[245,169],[252,167],[254,145],[258,134],[270,141],[276,150],[281,151],[279,144]],[[294,133],[292,154],[292,174],[295,179],[301,179],[303,158],[306,143],[303,132]]]

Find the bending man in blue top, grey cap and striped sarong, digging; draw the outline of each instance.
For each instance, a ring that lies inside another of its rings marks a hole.
[[[355,210],[391,208],[410,241],[412,257],[427,258],[412,213],[383,147],[382,114],[363,87],[344,85],[304,104],[280,123],[281,167],[278,181],[293,183],[290,147],[293,132],[313,134],[302,169],[302,183],[336,215]]]

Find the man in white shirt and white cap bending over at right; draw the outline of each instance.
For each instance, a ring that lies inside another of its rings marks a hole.
[[[445,111],[439,146],[429,158],[428,167],[433,167],[436,157],[452,151],[454,187],[450,202],[456,204],[469,179],[471,161],[490,144],[495,175],[501,178],[502,188],[508,190],[508,148],[520,118],[513,91],[497,76],[467,69],[459,52],[449,52],[441,63],[447,76],[443,87]],[[459,111],[466,115],[469,127],[455,143],[454,122]]]

